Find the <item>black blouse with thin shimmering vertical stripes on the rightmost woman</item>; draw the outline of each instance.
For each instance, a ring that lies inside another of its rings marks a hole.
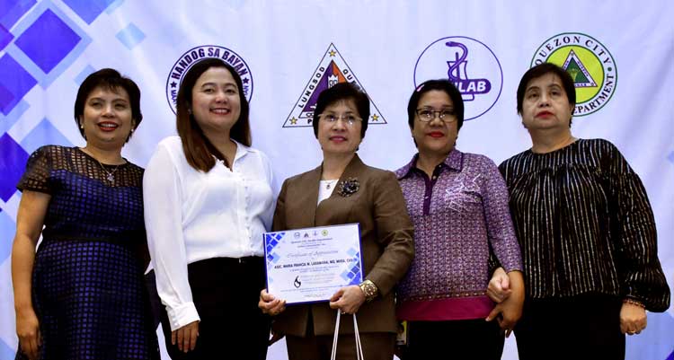
[[[616,146],[578,140],[501,163],[529,298],[585,293],[670,306],[643,184]]]

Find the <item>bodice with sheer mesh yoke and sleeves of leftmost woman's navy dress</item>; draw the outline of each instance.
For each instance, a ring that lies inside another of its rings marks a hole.
[[[48,145],[31,154],[17,188],[51,195],[45,240],[141,239],[146,246],[143,198],[124,195],[141,195],[142,180],[143,169],[131,162],[101,164],[78,147]]]

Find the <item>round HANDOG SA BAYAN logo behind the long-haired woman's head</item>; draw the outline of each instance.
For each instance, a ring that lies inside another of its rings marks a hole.
[[[244,59],[229,48],[217,45],[202,45],[191,48],[182,54],[178,61],[173,64],[171,73],[166,79],[166,100],[169,102],[173,113],[175,113],[175,100],[178,98],[178,87],[182,83],[182,76],[194,63],[205,57],[219,58],[234,67],[244,83],[244,95],[249,102],[251,101],[253,97],[253,75],[251,75],[251,69]]]

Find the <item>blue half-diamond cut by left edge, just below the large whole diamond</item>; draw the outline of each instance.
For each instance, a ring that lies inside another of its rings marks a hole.
[[[23,95],[38,83],[13,57],[0,57],[0,111],[4,115],[21,101]]]

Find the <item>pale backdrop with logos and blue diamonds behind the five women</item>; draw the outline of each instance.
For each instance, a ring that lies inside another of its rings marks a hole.
[[[145,118],[124,154],[144,166],[175,133],[171,75],[191,49],[227,51],[248,79],[253,145],[270,156],[278,184],[320,162],[306,115],[321,80],[368,92],[377,118],[359,154],[395,170],[415,150],[405,111],[415,83],[449,72],[474,118],[457,147],[498,163],[530,146],[515,110],[520,76],[536,61],[566,63],[579,74],[572,131],[612,141],[642,176],[674,285],[672,18],[667,0],[0,0],[0,360],[17,344],[9,254],[21,196],[13,187],[28,154],[84,144],[72,118],[77,86],[114,67],[142,91]],[[573,336],[574,324],[550,319]],[[627,339],[627,358],[674,358],[673,332],[674,310],[650,313],[648,329]],[[511,339],[503,357],[517,358]],[[286,358],[285,349],[269,358]]]

